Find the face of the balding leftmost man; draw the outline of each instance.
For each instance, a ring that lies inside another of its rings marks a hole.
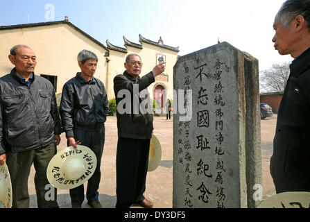
[[[8,56],[18,73],[32,73],[37,65],[37,57],[32,49],[21,46],[16,49],[15,56]]]

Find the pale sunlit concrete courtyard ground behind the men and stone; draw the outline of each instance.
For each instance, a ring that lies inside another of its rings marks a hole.
[[[261,160],[263,176],[263,198],[275,194],[273,180],[269,173],[270,156],[273,153],[273,137],[277,115],[271,119],[261,120]],[[171,208],[173,194],[173,121],[166,121],[166,117],[154,117],[155,135],[162,146],[162,162],[152,172],[148,172],[146,180],[146,198],[155,204],[155,207]],[[105,146],[101,163],[101,183],[99,187],[99,200],[103,207],[113,208],[116,203],[116,151],[117,151],[117,118],[107,117],[105,123]],[[67,139],[62,134],[62,141],[58,151],[67,147]],[[28,190],[31,194],[31,207],[37,207],[35,186],[33,183],[35,170],[31,169],[28,180]],[[69,190],[58,189],[58,204],[62,208],[71,207]],[[82,207],[89,207],[87,200]]]

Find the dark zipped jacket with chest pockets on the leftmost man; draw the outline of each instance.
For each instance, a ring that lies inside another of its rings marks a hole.
[[[31,87],[15,68],[0,78],[0,154],[42,148],[62,133],[53,85],[33,76]]]

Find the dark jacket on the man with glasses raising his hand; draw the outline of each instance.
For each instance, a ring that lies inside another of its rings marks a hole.
[[[136,84],[138,86],[139,92],[145,90],[144,94],[148,96],[148,89],[147,87],[155,82],[155,78],[153,75],[153,72],[150,72],[143,76],[142,78],[138,76],[137,79],[135,79],[133,76],[127,73],[125,71],[123,74],[117,75],[114,77],[114,94],[117,101],[117,105],[119,105],[119,102],[122,101],[124,98],[117,98],[117,94],[119,94],[119,91],[121,89],[127,89],[130,92],[130,106],[131,106],[131,112],[130,113],[119,113],[119,107],[117,110],[117,130],[119,137],[127,137],[127,138],[134,138],[134,139],[150,139],[152,137],[152,131],[153,131],[153,113],[146,113],[142,114],[141,110],[139,110],[139,113],[135,114],[133,111],[134,105],[137,106],[141,105],[142,102],[144,102],[144,99],[137,98],[137,95],[134,95],[134,85]],[[134,99],[137,101],[137,103],[134,103]],[[148,104],[150,105],[150,104]],[[126,105],[125,105],[126,106]],[[126,108],[126,107],[124,107]],[[151,108],[153,112],[153,108]]]

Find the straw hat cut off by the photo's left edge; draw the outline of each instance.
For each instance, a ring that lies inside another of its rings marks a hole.
[[[4,208],[12,207],[12,184],[6,162],[0,166],[0,202]]]

